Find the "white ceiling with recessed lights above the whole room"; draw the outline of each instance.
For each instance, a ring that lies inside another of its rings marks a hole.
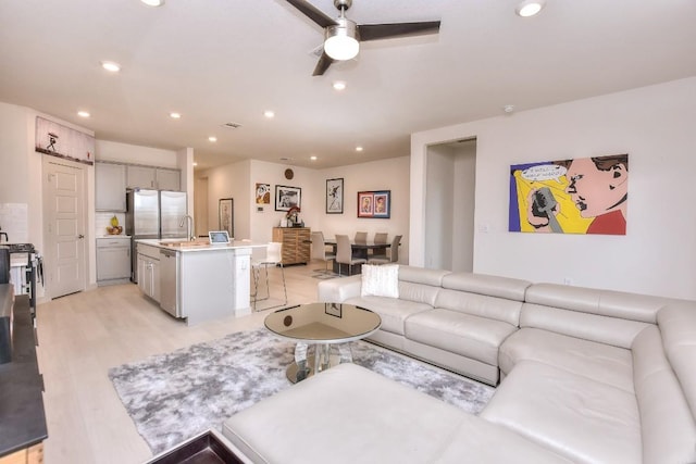
[[[311,3],[337,15],[333,0]],[[322,30],[284,0],[4,0],[0,101],[98,139],[192,147],[199,168],[248,158],[328,167],[407,155],[411,133],[507,104],[696,75],[696,0],[547,0],[532,18],[514,14],[518,3],[355,0],[347,15],[359,24],[442,20],[439,35],[365,42],[356,61],[312,77]],[[337,79],[348,84],[340,93]]]

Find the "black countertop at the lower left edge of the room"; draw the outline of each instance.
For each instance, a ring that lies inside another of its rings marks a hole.
[[[12,361],[0,364],[0,456],[48,438],[29,298],[14,300]]]

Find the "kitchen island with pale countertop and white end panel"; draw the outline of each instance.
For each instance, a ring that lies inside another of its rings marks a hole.
[[[208,239],[137,240],[138,287],[161,309],[188,325],[251,313],[250,262],[266,243]]]

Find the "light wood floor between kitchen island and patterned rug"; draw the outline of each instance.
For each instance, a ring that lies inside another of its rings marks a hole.
[[[316,300],[312,269],[286,267],[289,303]],[[282,296],[279,268],[271,291]],[[263,308],[259,303],[259,309]],[[130,464],[151,457],[107,375],[110,367],[261,327],[271,310],[188,327],[142,297],[133,284],[99,287],[37,308],[38,360],[46,391],[47,464]]]

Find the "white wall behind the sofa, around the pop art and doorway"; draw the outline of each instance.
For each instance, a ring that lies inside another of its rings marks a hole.
[[[696,298],[696,78],[414,134],[427,146],[477,138],[474,271]],[[629,153],[625,236],[508,233],[511,164]],[[425,176],[411,181],[411,264],[424,262]],[[488,231],[483,231],[485,228]]]

